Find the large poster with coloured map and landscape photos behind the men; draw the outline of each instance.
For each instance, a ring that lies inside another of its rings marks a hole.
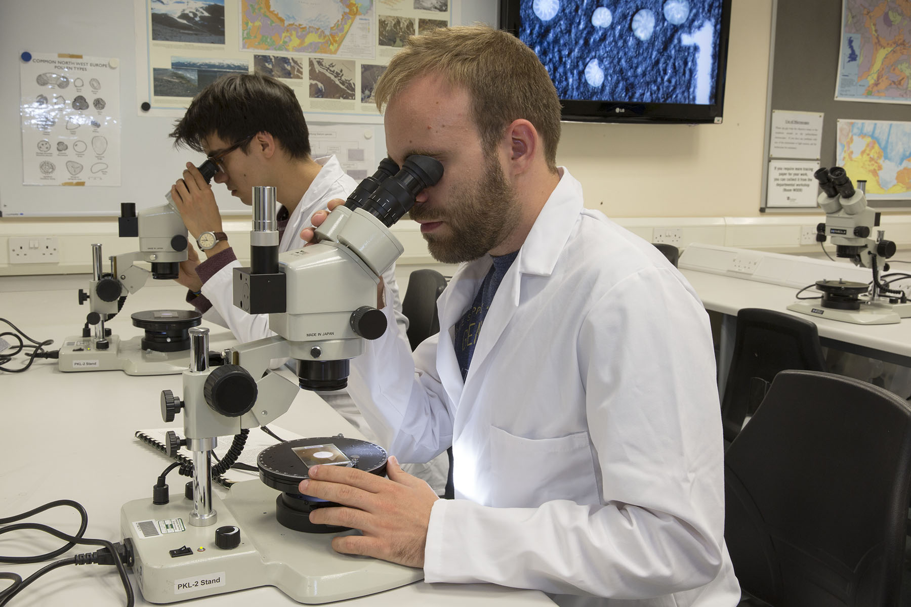
[[[180,116],[219,76],[255,72],[291,86],[308,119],[379,123],[376,80],[409,35],[452,23],[452,2],[136,0],[140,113]]]

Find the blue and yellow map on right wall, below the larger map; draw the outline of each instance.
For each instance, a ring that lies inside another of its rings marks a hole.
[[[911,198],[911,122],[839,120],[836,159],[870,198]]]

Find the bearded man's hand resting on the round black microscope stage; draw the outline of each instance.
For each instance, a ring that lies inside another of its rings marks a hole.
[[[404,472],[394,457],[386,464],[388,479],[341,466],[313,466],[309,473],[302,493],[343,504],[312,511],[310,521],[363,533],[334,538],[335,551],[424,567],[430,510],[439,499],[430,485]]]

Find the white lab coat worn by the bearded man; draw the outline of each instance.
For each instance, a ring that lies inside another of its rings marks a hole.
[[[731,607],[707,314],[657,249],[584,208],[560,171],[466,381],[453,326],[489,257],[455,273],[441,333],[414,359],[399,337],[374,341],[349,389],[402,460],[453,445],[460,499],[434,504],[426,582],[535,588],[560,604]]]

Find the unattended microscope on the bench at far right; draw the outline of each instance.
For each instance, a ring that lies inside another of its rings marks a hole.
[[[880,282],[880,268],[888,270],[885,259],[895,255],[896,244],[886,240],[881,229],[872,238],[880,214],[866,206],[865,182],[858,181],[855,188],[842,167],[820,168],[814,177],[822,190],[817,202],[825,211],[825,223],[816,227],[816,240],[831,239],[835,256],[870,268],[873,281],[868,286],[841,278],[818,280],[815,287],[823,293],[819,303],[798,300],[787,309],[861,325],[890,324],[911,317],[905,293]]]

